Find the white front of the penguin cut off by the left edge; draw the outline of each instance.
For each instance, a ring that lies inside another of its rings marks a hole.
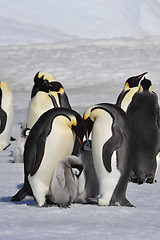
[[[5,147],[9,145],[11,131],[12,131],[12,123],[13,123],[13,96],[10,90],[3,90],[3,98],[2,98],[2,109],[7,114],[7,122],[4,131],[0,134],[0,150],[3,150]]]

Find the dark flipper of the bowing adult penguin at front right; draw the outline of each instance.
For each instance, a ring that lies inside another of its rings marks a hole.
[[[123,136],[119,131],[119,134],[114,134],[103,146],[102,150],[103,164],[108,172],[112,171],[111,167],[112,154],[114,153],[115,150],[120,148],[120,146],[122,145],[122,141]]]

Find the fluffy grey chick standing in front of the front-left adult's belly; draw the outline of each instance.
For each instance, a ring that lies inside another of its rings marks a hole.
[[[69,207],[77,195],[77,181],[83,170],[81,160],[67,156],[57,165],[52,182],[50,200],[61,207]]]

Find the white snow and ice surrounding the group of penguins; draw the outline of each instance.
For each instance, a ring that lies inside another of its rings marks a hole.
[[[159,0],[0,0],[0,69],[14,97],[12,136],[19,136],[41,70],[63,84],[80,114],[95,103],[115,103],[126,79],[145,71],[160,97],[159,11]],[[10,202],[23,183],[23,164],[12,163],[14,147],[0,152],[2,240],[159,239],[160,169],[157,183],[129,183],[135,208],[38,208],[31,198]]]

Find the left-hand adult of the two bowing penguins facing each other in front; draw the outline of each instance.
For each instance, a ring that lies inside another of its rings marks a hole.
[[[76,138],[79,144],[83,139],[83,124],[76,111],[66,108],[53,108],[41,115],[25,144],[24,185],[11,201],[21,201],[30,195],[39,207],[45,204],[57,164],[72,155]]]

